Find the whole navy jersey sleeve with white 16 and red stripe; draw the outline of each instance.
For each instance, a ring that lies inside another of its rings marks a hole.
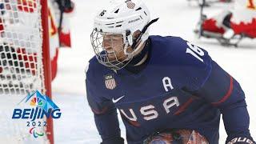
[[[246,109],[245,94],[239,83],[218,66],[206,50],[190,42],[187,42],[187,45],[186,54],[182,58],[184,61],[182,69],[185,70],[184,90],[205,99],[221,111],[228,134],[226,143],[233,142],[234,138],[253,142],[250,136],[250,118]]]

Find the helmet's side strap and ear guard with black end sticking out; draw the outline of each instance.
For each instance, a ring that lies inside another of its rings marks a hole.
[[[127,55],[126,60],[129,60],[130,58],[132,58],[134,56],[133,54],[135,54],[139,50],[139,48],[143,45],[143,43],[149,37],[149,32],[148,32],[147,28],[154,22],[157,22],[158,19],[159,18],[155,18],[152,21],[150,21],[148,24],[146,24],[146,26],[144,26],[144,28],[142,29],[141,34],[139,34],[138,38],[136,38],[135,40],[133,40],[133,36],[132,36],[132,34],[130,34],[130,30],[126,31],[127,39],[126,39],[126,45],[124,46],[124,54]],[[133,49],[133,51],[131,53],[129,53],[127,51],[129,47],[131,47]]]

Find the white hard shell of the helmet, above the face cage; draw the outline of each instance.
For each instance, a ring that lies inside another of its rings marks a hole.
[[[122,34],[142,31],[150,22],[150,11],[141,0],[115,0],[94,18],[94,28],[106,33]]]

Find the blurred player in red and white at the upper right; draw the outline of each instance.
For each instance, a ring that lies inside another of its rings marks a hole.
[[[220,37],[230,39],[242,34],[256,38],[256,1],[236,0],[233,10],[222,10],[213,18],[202,22],[202,30],[209,34],[220,34]]]

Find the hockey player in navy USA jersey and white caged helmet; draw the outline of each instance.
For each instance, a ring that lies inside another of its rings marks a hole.
[[[172,134],[178,143],[179,130],[216,144],[220,114],[226,143],[254,143],[239,83],[206,50],[178,37],[149,36],[157,20],[150,21],[141,0],[112,1],[94,18],[86,94],[102,144],[124,143],[117,109],[129,144],[152,142],[155,134]]]

